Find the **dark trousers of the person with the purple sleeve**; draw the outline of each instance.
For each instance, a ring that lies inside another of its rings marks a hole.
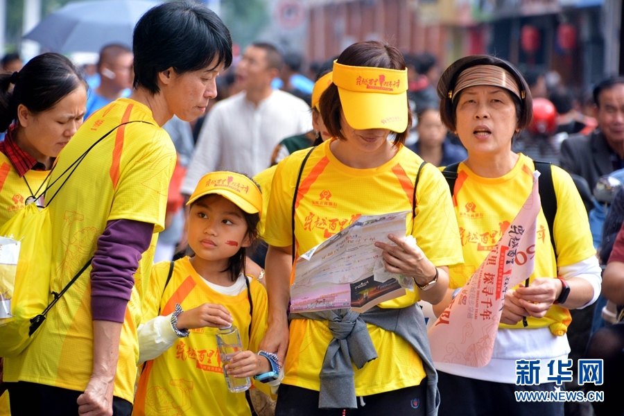
[[[78,396],[83,392],[38,383],[6,383],[11,416],[78,415]],[[132,415],[130,401],[113,397],[113,416]]]

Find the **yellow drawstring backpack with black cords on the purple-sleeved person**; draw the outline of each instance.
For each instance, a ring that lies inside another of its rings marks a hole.
[[[89,151],[121,125],[129,123],[147,122],[121,123],[97,139],[39,195],[31,196],[34,201],[40,200],[56,182],[63,180],[46,201],[46,207],[32,202],[0,227],[0,236],[6,237],[0,240],[0,303],[3,306],[0,307],[3,312],[0,312],[0,356],[15,357],[24,351],[35,338],[46,314],[91,265],[93,257],[62,291],[50,291],[53,239],[49,206]],[[3,252],[7,249],[13,253],[8,261],[3,259]]]

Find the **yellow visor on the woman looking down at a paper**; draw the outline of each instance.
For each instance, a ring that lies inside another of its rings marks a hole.
[[[334,61],[331,78],[352,128],[407,130],[407,69],[350,67]]]

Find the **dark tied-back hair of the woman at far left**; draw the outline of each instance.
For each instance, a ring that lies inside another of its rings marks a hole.
[[[87,82],[80,70],[58,53],[42,53],[29,60],[19,72],[1,74],[0,131],[6,131],[17,120],[20,104],[29,112],[40,114],[51,110],[80,87],[87,91]]]

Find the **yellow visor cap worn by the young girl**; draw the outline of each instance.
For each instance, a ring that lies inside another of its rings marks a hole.
[[[248,214],[262,214],[262,193],[254,181],[245,175],[234,172],[211,172],[204,175],[187,205],[210,193],[231,200]]]

